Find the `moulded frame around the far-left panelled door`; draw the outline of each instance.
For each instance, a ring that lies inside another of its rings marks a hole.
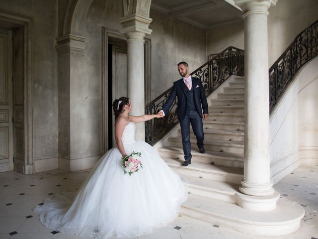
[[[3,28],[24,28],[23,38],[23,78],[24,78],[24,162],[14,163],[14,169],[24,174],[33,174],[33,22],[32,17],[0,9],[0,21],[7,22]],[[11,120],[11,119],[9,119]]]

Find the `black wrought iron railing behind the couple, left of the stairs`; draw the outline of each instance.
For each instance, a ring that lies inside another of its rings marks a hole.
[[[206,96],[215,91],[230,76],[244,76],[244,51],[236,47],[228,47],[215,55],[211,60],[191,73],[192,77],[200,78]],[[145,107],[145,114],[156,114],[165,104],[171,88],[166,90]],[[163,135],[178,123],[175,113],[177,99],[165,117],[145,122],[146,142],[154,145]]]

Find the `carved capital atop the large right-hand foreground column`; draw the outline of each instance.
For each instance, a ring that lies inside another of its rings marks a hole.
[[[278,0],[234,0],[244,12],[243,18],[250,14],[262,13],[268,15],[268,8],[276,5]]]

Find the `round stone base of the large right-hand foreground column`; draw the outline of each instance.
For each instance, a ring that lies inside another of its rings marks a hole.
[[[237,193],[236,196],[240,207],[251,211],[266,212],[276,208],[280,194],[274,190],[274,193],[269,196],[249,196],[242,193]]]

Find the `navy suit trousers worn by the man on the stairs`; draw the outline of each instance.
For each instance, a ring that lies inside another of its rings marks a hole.
[[[204,146],[203,122],[197,111],[188,110],[184,119],[180,121],[182,146],[185,160],[191,160],[190,123],[197,138],[199,148]]]

